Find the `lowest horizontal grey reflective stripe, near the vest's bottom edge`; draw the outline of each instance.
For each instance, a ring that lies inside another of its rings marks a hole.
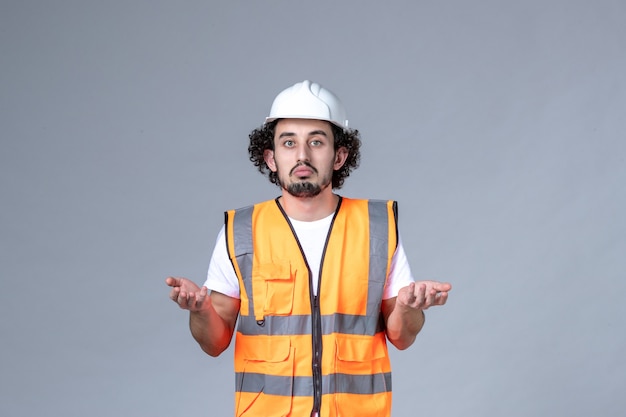
[[[267,395],[310,397],[313,378],[264,375],[238,372],[235,375],[239,392],[263,392]],[[372,395],[391,392],[391,373],[374,375],[331,374],[322,376],[322,395],[334,393]]]

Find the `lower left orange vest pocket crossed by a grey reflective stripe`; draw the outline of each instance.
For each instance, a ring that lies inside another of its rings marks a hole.
[[[288,339],[254,336],[241,350],[236,416],[288,416],[292,409],[294,349]]]

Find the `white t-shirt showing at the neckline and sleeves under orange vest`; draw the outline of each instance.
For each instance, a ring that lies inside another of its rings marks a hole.
[[[332,219],[333,214],[324,219],[312,222],[289,219],[296,231],[296,235],[304,250],[304,255],[306,256],[307,263],[314,277],[319,275],[322,252]],[[404,253],[404,247],[402,246],[402,240],[398,238],[398,247],[391,260],[389,277],[383,291],[383,300],[397,296],[400,288],[406,287],[413,281],[411,268],[409,267],[406,254]],[[228,251],[226,249],[224,226],[222,226],[222,229],[217,235],[215,249],[213,250],[207,279],[204,285],[211,291],[217,291],[233,298],[240,298],[239,280],[228,258]],[[313,280],[313,291],[317,293],[317,279]]]

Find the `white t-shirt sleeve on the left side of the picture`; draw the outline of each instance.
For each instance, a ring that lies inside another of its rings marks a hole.
[[[215,249],[209,263],[207,279],[204,286],[232,298],[240,299],[239,279],[226,250],[225,227],[222,226],[215,241]]]

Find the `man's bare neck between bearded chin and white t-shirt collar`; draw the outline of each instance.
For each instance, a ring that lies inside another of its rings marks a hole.
[[[330,216],[337,209],[339,196],[330,189],[323,190],[315,197],[294,197],[283,190],[278,202],[292,219],[312,222]]]

